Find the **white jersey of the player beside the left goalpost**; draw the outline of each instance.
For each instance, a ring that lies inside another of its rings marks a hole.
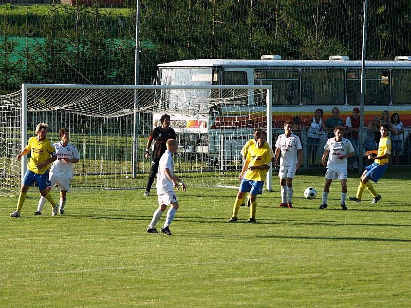
[[[65,163],[61,159],[80,159],[79,150],[71,143],[63,146],[58,142],[54,143],[53,146],[57,153],[57,160],[54,161],[50,168],[50,177],[54,175],[61,178],[72,179],[74,175],[74,163]]]

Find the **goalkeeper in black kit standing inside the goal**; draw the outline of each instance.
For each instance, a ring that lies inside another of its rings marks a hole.
[[[160,118],[161,125],[154,128],[151,131],[150,137],[148,137],[147,147],[144,152],[146,159],[150,158],[150,147],[154,140],[154,151],[152,153],[152,166],[150,170],[150,175],[148,176],[147,186],[143,196],[150,196],[151,186],[153,185],[154,178],[157,175],[158,163],[161,156],[167,149],[165,143],[169,139],[176,139],[176,132],[170,127],[170,115],[163,114]]]

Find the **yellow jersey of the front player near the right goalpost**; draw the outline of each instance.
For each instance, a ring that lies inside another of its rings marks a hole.
[[[266,142],[262,147],[257,147],[257,144],[251,144],[248,153],[247,161],[249,166],[271,165],[271,158],[273,157],[273,150]],[[250,181],[264,181],[266,179],[268,169],[247,170],[245,179]]]

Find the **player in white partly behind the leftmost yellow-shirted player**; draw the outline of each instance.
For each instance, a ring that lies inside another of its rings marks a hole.
[[[54,186],[60,189],[60,205],[59,213],[64,214],[64,206],[66,205],[66,192],[70,190],[70,181],[74,176],[74,163],[80,161],[79,150],[76,146],[69,143],[70,131],[68,128],[60,129],[60,142],[54,143],[53,146],[57,153],[57,160],[54,161],[50,168],[49,181],[51,186],[47,189],[50,191]],[[34,215],[41,215],[46,199],[41,197],[39,205]]]

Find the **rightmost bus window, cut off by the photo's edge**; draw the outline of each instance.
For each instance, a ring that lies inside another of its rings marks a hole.
[[[393,93],[393,104],[411,104],[411,70],[393,69],[391,70],[391,91]]]

